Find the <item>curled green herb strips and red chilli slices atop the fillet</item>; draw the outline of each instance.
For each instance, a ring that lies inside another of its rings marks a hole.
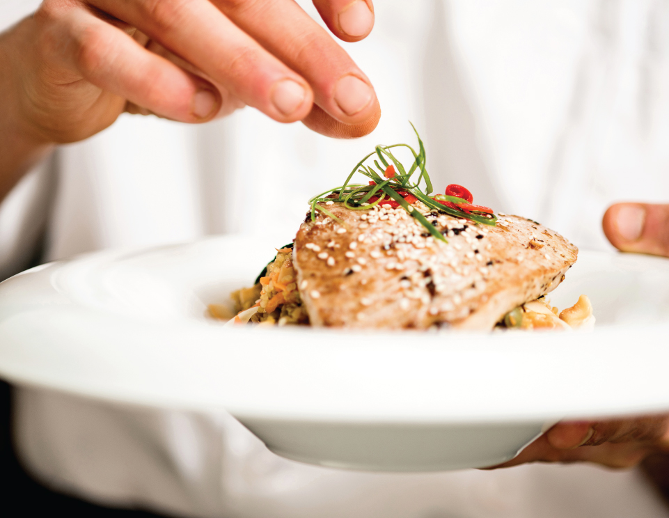
[[[494,214],[491,214],[491,210],[487,209],[487,207],[471,205],[471,199],[467,200],[458,196],[449,196],[449,189],[446,189],[447,194],[437,194],[432,198],[430,197],[433,189],[430,175],[427,174],[427,169],[425,168],[425,146],[423,146],[423,141],[420,140],[420,135],[418,135],[416,127],[411,122],[409,124],[414,128],[414,132],[418,138],[418,152],[408,144],[376,146],[373,152],[356,164],[353,171],[348,175],[344,185],[324,191],[309,200],[311,205],[311,221],[315,221],[316,211],[319,210],[326,214],[326,216],[342,223],[338,217],[322,205],[319,205],[319,203],[332,201],[333,195],[336,195],[337,201],[343,203],[350,210],[370,210],[376,205],[384,205],[384,203],[391,203],[395,207],[402,206],[411,216],[420,221],[435,239],[443,242],[447,242],[446,238],[443,237],[439,230],[434,228],[430,221],[425,219],[423,214],[415,210],[411,203],[421,201],[427,207],[441,213],[449,214],[452,217],[469,219],[475,223],[494,226],[497,218]],[[395,155],[391,151],[393,148],[407,148],[414,155],[414,163],[411,164],[409,171],[404,168],[402,162],[395,158]],[[373,155],[377,155],[374,159],[374,165],[379,172],[365,164]],[[383,166],[379,164],[379,160]],[[413,183],[411,182],[411,177],[417,171],[420,171],[418,181]],[[350,183],[355,173],[360,173],[369,178],[371,180],[369,182],[370,185]],[[423,187],[421,187],[421,183]],[[464,188],[461,187],[461,189]],[[463,192],[469,194],[469,191],[466,189]],[[471,198],[471,195],[469,197]]]

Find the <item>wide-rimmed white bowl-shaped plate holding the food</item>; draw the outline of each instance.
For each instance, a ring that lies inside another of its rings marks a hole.
[[[56,262],[0,285],[0,372],[93,398],[225,408],[280,455],[422,471],[513,457],[562,417],[669,409],[669,260],[582,252],[553,304],[593,333],[227,329],[206,304],[274,253],[217,237]]]

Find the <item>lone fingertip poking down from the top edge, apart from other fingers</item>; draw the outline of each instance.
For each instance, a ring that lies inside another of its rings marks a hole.
[[[374,6],[365,0],[313,0],[323,21],[344,41],[360,41],[374,26]]]

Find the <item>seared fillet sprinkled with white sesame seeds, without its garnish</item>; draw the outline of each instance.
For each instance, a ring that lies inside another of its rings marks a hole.
[[[314,326],[492,329],[503,315],[565,278],[578,249],[536,221],[500,216],[476,225],[420,210],[448,239],[434,239],[402,207],[326,208],[299,228],[297,281]]]

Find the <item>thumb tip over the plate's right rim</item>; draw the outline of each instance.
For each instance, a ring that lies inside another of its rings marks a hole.
[[[669,205],[616,203],[601,226],[619,250],[669,257]]]

